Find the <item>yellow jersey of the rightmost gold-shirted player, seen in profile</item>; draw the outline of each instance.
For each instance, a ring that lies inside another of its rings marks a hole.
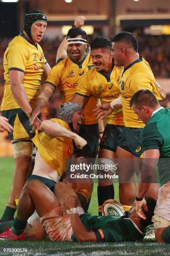
[[[129,102],[133,94],[140,89],[153,91],[157,100],[162,100],[150,65],[145,59],[140,57],[122,70],[122,74],[118,79],[118,84],[122,97],[125,126],[143,128],[145,125],[133,112],[133,108],[130,108]]]

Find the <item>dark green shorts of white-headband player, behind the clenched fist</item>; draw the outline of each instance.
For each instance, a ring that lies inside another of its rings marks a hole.
[[[98,147],[99,147],[99,131],[98,131],[98,123],[92,125],[80,125],[80,131],[78,133],[82,138],[87,141],[87,145],[82,148],[78,149],[75,144],[74,145],[74,152],[73,154],[86,154],[91,158],[95,158],[98,154]]]

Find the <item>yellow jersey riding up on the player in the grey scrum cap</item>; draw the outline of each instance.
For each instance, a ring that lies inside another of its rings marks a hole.
[[[63,120],[50,119],[71,131],[70,126]],[[65,173],[66,160],[70,159],[73,152],[73,144],[71,138],[55,137],[47,133],[37,131],[35,137],[32,138],[37,147],[40,156],[50,167],[52,167],[60,177]]]

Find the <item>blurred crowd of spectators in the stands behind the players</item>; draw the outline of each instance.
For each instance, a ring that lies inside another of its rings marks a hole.
[[[155,77],[170,78],[170,37],[169,36],[138,36],[139,54],[146,59]],[[0,40],[0,104],[3,97],[4,77],[3,77],[3,55],[12,38],[1,38]],[[42,40],[40,45],[44,55],[50,64],[55,65],[57,48],[60,40]],[[90,43],[90,42],[89,42]],[[42,115],[42,120],[54,117],[55,109],[61,104],[62,99],[56,91],[50,98],[45,108],[47,114]]]

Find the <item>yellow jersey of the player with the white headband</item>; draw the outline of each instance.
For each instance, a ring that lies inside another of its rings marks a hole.
[[[85,73],[93,66],[90,54],[85,54],[81,63],[72,61],[70,56],[68,56],[51,69],[46,83],[58,87],[63,102],[68,102],[75,95],[77,86],[85,76]],[[96,108],[96,104],[97,99],[95,99],[95,97],[90,97],[87,105],[83,109],[83,116],[85,118],[83,124],[89,125],[97,123],[92,112],[92,110]]]

